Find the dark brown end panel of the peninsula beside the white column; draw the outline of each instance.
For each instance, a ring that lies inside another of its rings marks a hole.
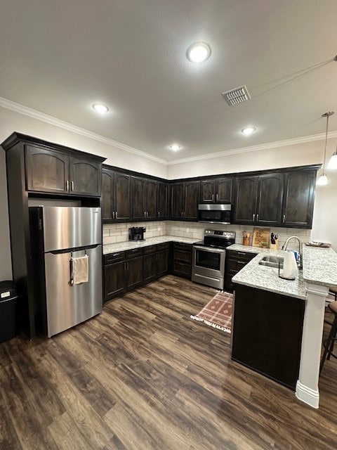
[[[232,359],[295,390],[305,301],[238,284],[234,291]]]

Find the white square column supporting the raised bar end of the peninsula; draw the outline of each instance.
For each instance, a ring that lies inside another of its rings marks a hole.
[[[296,397],[312,408],[319,406],[319,362],[321,359],[325,300],[329,288],[306,283],[307,300],[303,322],[300,373],[296,383]]]

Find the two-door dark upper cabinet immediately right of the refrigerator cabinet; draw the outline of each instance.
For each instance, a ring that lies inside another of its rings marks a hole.
[[[102,218],[105,222],[131,218],[131,176],[103,168]]]

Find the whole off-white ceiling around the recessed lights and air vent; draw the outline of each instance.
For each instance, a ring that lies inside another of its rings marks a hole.
[[[1,0],[0,96],[164,160],[324,133],[336,18],[336,0]]]

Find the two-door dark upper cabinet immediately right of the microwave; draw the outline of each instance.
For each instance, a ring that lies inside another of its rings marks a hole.
[[[261,226],[281,224],[284,174],[237,176],[234,223]]]

